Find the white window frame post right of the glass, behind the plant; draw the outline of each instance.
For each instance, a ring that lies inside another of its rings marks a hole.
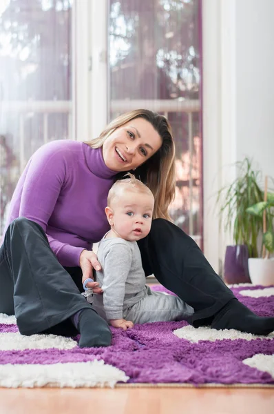
[[[202,3],[204,255],[218,273],[232,242],[219,229],[216,193],[236,177],[235,1]]]

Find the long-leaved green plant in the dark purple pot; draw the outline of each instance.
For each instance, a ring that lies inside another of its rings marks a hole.
[[[251,282],[248,258],[257,257],[257,234],[262,228],[261,219],[246,214],[246,209],[264,200],[260,189],[261,172],[254,170],[252,161],[244,158],[236,163],[237,177],[218,191],[220,225],[232,233],[233,246],[226,246],[224,279],[229,284]]]

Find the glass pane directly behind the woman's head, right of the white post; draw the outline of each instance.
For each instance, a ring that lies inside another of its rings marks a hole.
[[[165,115],[176,141],[175,223],[202,246],[200,1],[109,0],[110,118]]]

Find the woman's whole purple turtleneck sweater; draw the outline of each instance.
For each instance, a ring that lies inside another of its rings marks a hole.
[[[67,140],[45,144],[18,181],[6,228],[17,217],[35,221],[59,262],[79,266],[83,249],[91,250],[109,230],[105,207],[114,175],[102,148]]]

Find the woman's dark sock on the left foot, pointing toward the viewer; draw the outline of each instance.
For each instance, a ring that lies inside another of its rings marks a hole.
[[[112,333],[109,326],[92,308],[81,309],[70,319],[81,335],[78,343],[80,348],[110,345]]]

